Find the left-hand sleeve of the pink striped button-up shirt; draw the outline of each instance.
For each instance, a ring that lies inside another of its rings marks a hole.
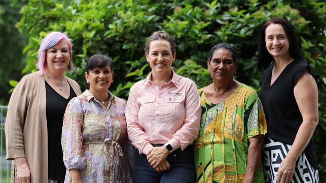
[[[126,106],[126,121],[128,137],[132,144],[139,150],[139,153],[146,154],[153,146],[150,144],[149,137],[140,128],[138,121],[139,104],[137,102],[137,91],[135,85],[130,88],[129,98]]]

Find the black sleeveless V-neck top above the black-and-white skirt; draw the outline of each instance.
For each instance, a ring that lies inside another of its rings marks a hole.
[[[294,60],[269,86],[273,66],[274,63],[263,71],[261,90],[258,93],[267,120],[267,137],[292,145],[302,123],[302,115],[296,103],[293,89],[299,76],[304,74],[306,69],[310,72],[310,67],[305,61]],[[304,152],[311,165],[316,168],[317,161],[312,138]]]

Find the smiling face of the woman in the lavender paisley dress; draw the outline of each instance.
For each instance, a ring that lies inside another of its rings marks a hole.
[[[89,82],[89,90],[93,94],[107,92],[112,83],[113,75],[109,65],[88,70],[88,73],[85,72],[85,77]]]

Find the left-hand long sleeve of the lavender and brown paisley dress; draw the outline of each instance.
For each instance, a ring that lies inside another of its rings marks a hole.
[[[67,169],[83,170],[86,167],[86,154],[82,148],[83,122],[82,102],[80,98],[74,97],[67,105],[61,136],[63,161]]]

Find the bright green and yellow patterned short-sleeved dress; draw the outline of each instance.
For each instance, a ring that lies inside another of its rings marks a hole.
[[[200,93],[202,116],[195,144],[197,182],[243,182],[249,141],[267,132],[257,93],[241,83],[224,102],[213,104]],[[264,182],[262,163],[255,182]]]

